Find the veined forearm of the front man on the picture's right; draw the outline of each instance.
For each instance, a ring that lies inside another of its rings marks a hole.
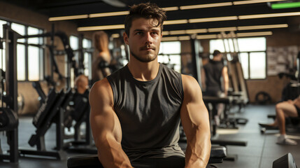
[[[206,134],[197,130],[190,138],[187,137],[185,151],[185,168],[206,167],[210,157],[210,133]]]

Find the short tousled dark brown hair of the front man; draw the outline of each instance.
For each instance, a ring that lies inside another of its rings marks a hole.
[[[166,20],[166,11],[159,8],[155,3],[139,3],[130,7],[129,14],[125,18],[125,33],[129,36],[132,21],[137,18],[155,19],[158,21],[155,27],[161,27]]]

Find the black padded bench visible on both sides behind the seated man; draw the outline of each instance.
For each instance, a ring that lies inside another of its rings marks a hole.
[[[227,156],[227,149],[224,146],[211,146],[209,164],[222,163]],[[67,160],[68,168],[94,168],[101,167],[97,155],[73,156]]]

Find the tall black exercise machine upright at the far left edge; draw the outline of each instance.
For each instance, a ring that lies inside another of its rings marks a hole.
[[[6,108],[1,108],[1,122],[3,125],[10,127],[2,127],[1,131],[6,132],[8,139],[9,151],[3,153],[0,150],[0,160],[9,160],[9,162],[18,162],[18,137],[17,137],[17,38],[21,35],[17,34],[13,29],[10,29],[8,25],[3,25],[3,40],[0,39],[1,43],[1,56],[3,45],[2,42],[6,43],[6,96],[2,97],[1,101],[6,103]],[[1,70],[2,71],[2,70]],[[3,73],[1,73],[1,80],[3,80]],[[2,83],[3,84],[3,83]],[[3,85],[2,85],[3,87]],[[3,94],[3,90],[2,90]],[[6,118],[10,119],[9,121]],[[6,120],[6,121],[5,121]],[[6,122],[6,123],[4,123]]]

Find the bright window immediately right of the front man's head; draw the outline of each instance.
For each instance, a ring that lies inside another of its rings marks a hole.
[[[166,64],[175,71],[181,71],[180,41],[166,41],[160,44],[158,62]]]

